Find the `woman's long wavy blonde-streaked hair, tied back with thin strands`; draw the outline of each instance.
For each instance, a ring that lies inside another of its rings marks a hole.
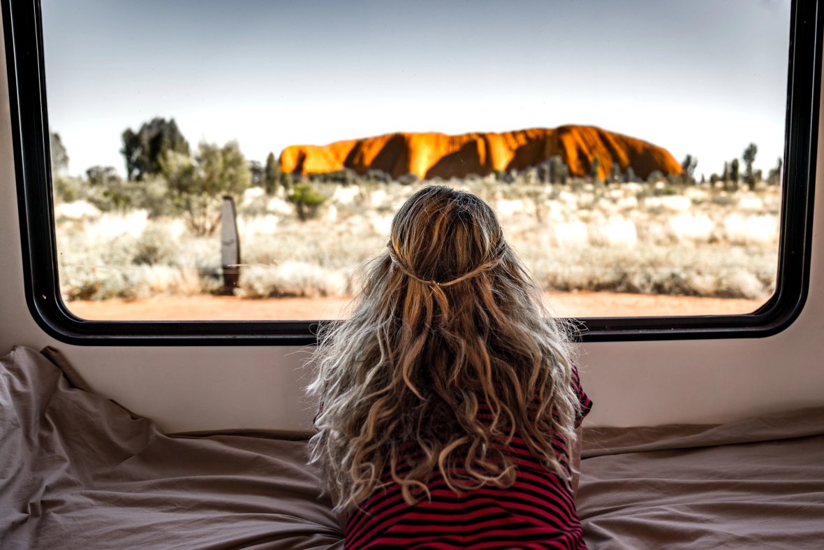
[[[569,482],[569,456],[550,444],[558,434],[571,448],[580,407],[569,326],[547,313],[489,205],[417,191],[363,274],[353,315],[319,335],[308,388],[321,401],[311,459],[336,510],[391,483],[414,505],[436,471],[456,492],[510,487],[516,434]]]

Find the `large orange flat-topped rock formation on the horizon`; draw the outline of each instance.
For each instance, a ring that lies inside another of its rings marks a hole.
[[[522,170],[555,155],[563,159],[571,176],[590,174],[596,157],[600,177],[610,173],[613,162],[618,163],[621,172],[632,167],[644,179],[654,171],[681,173],[681,165],[667,149],[595,126],[573,125],[501,134],[398,133],[322,146],[292,145],[280,154],[280,168],[300,174],[350,168],[358,174],[382,170],[394,178],[411,172],[421,178],[448,179]]]

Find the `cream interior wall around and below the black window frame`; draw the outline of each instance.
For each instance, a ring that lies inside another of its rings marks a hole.
[[[2,31],[0,31],[2,32]],[[0,41],[2,49],[2,41]],[[0,63],[5,63],[5,54]],[[5,66],[2,67],[5,74]],[[296,347],[68,346],[37,326],[23,291],[11,121],[0,78],[0,353],[54,346],[98,393],[169,431],[307,428],[307,350]],[[824,158],[819,125],[818,157]],[[819,162],[812,279],[803,313],[763,339],[593,343],[579,363],[598,425],[729,421],[824,405],[824,162]]]

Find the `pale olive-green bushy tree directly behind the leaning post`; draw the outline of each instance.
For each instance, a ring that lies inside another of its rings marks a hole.
[[[162,173],[169,184],[171,199],[197,235],[211,235],[220,223],[224,195],[238,195],[249,187],[251,173],[237,142],[223,147],[200,143],[194,159],[167,151]]]

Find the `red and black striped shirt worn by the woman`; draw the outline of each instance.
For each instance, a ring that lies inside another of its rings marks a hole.
[[[581,402],[576,427],[592,408],[574,370]],[[551,442],[560,457],[566,443]],[[410,506],[400,486],[391,483],[349,515],[345,548],[587,548],[572,491],[554,471],[514,437],[509,450],[517,457],[512,487],[480,487],[456,494],[439,472],[427,482],[431,501]],[[399,473],[402,473],[400,471]]]

